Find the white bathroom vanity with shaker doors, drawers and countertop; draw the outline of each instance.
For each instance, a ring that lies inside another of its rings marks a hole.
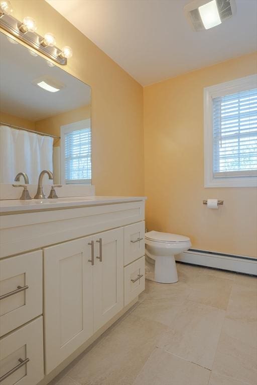
[[[145,198],[0,206],[2,383],[47,383],[144,290]]]

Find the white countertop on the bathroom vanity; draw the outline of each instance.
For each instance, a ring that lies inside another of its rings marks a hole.
[[[70,197],[58,199],[32,199],[21,201],[18,199],[0,201],[0,215],[16,214],[21,212],[58,210],[65,208],[76,208],[86,206],[108,205],[114,203],[125,203],[145,201],[146,197]]]

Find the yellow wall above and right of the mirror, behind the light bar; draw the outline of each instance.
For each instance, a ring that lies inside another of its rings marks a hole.
[[[92,87],[92,183],[97,195],[144,195],[143,88],[43,0],[12,0],[73,57],[62,67]]]

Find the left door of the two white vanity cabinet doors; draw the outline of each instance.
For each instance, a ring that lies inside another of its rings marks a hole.
[[[44,249],[46,374],[93,334],[91,239]]]

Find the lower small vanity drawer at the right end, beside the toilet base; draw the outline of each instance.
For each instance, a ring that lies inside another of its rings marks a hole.
[[[145,257],[124,267],[124,306],[145,290]]]

